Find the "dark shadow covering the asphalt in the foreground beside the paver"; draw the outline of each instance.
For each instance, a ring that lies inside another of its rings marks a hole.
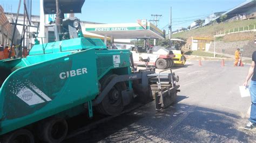
[[[179,96],[179,100],[187,98]],[[113,118],[65,142],[207,141],[248,142],[254,139],[238,129],[241,118],[232,113],[177,103],[156,111],[154,102]]]

